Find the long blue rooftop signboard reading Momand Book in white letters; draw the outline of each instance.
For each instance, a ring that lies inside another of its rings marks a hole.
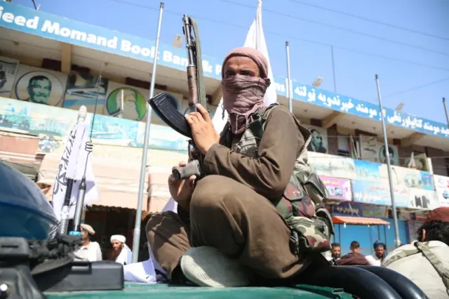
[[[138,36],[76,22],[6,2],[0,5],[0,9],[2,10],[1,27],[147,62],[152,62],[156,54],[155,42]],[[182,48],[160,44],[157,58],[158,64],[166,67],[184,71],[187,66],[186,53]],[[203,55],[203,72],[206,77],[221,79],[221,66],[222,60]],[[274,81],[278,94],[286,96],[286,79],[275,77]],[[373,103],[298,84],[295,81],[292,85],[295,100],[380,121],[379,107]],[[383,113],[387,124],[449,138],[449,128],[444,124],[413,117],[389,108],[385,108]]]

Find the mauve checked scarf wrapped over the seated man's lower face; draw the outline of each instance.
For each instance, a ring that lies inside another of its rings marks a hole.
[[[251,115],[265,107],[264,95],[269,83],[269,79],[241,74],[222,79],[223,107],[229,115],[233,134],[243,133]]]

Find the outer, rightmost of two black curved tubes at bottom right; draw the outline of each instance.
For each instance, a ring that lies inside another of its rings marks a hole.
[[[410,279],[403,276],[402,274],[384,268],[384,267],[376,267],[376,266],[354,266],[361,268],[363,270],[367,270],[373,274],[376,274],[378,277],[387,281],[392,288],[398,292],[402,298],[407,299],[429,299],[427,295]]]

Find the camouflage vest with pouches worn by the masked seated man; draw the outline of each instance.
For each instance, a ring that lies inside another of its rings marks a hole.
[[[239,142],[232,145],[232,150],[246,157],[257,157],[257,150],[265,128],[265,121],[272,109],[286,109],[278,104],[271,105],[253,115]],[[328,197],[326,186],[307,164],[307,145],[311,140],[310,131],[300,124],[295,117],[300,133],[306,140],[295,162],[295,168],[286,187],[283,197],[271,199],[277,210],[286,220],[292,232],[290,244],[295,253],[314,251],[322,253],[330,250],[330,234],[333,225],[330,214],[323,207],[323,199]],[[222,138],[229,145],[232,140],[229,124],[222,132]],[[277,202],[276,204],[276,201]]]

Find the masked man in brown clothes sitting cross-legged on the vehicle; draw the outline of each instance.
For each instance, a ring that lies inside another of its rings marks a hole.
[[[285,107],[265,107],[271,83],[262,53],[235,48],[222,65],[222,133],[201,105],[187,115],[203,177],[170,176],[178,213],[153,215],[146,227],[171,281],[248,286],[328,265],[321,253],[333,229],[328,214],[317,217],[326,191],[307,166],[311,134]]]

